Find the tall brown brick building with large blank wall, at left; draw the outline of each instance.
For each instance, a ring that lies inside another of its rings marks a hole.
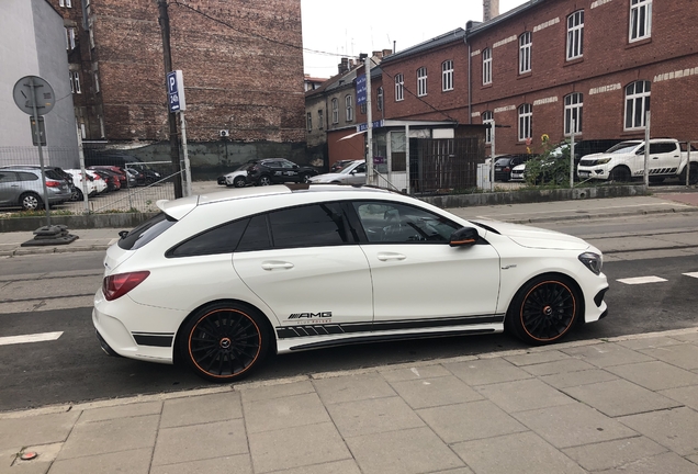
[[[128,8],[117,0],[50,2],[64,16],[85,138],[128,147],[166,140],[158,2],[136,0]],[[233,148],[250,143],[303,148],[300,0],[168,4],[172,69],[184,77],[188,140],[218,142],[221,131],[228,131]],[[248,151],[240,151],[239,161],[259,155],[256,146],[240,148]]]

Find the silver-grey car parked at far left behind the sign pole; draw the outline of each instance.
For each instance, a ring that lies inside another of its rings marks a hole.
[[[68,181],[53,169],[44,169],[48,205],[70,200],[72,191]],[[21,206],[24,211],[44,207],[42,171],[37,168],[0,168],[0,206]]]

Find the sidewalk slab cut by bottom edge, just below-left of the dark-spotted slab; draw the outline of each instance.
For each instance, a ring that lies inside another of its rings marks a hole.
[[[462,442],[454,444],[452,449],[479,474],[585,472],[570,458],[530,431]]]

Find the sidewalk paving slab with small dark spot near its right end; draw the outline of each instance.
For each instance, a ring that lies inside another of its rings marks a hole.
[[[581,403],[519,411],[513,416],[555,448],[570,448],[635,435],[633,430]]]

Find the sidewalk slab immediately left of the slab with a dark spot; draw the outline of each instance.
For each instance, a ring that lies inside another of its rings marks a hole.
[[[425,408],[417,414],[447,443],[528,430],[489,400]]]

